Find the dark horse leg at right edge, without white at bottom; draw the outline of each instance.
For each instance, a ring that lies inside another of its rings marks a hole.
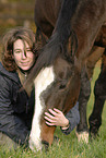
[[[103,64],[101,74],[95,83],[94,95],[95,95],[95,102],[93,112],[90,116],[90,135],[96,136],[98,133],[98,129],[102,125],[102,112],[104,102],[106,99],[106,50],[103,56]]]

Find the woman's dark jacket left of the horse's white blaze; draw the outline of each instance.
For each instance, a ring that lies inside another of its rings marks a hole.
[[[34,92],[28,98],[16,72],[8,72],[0,63],[0,131],[16,143],[24,144],[30,134]]]

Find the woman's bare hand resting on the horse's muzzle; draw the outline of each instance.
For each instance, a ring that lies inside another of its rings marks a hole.
[[[46,124],[57,125],[57,126],[59,125],[62,127],[62,130],[66,130],[69,127],[68,126],[69,120],[64,117],[64,114],[60,110],[56,108],[54,108],[54,110],[52,109],[48,109],[48,110],[50,113],[45,112],[45,117],[44,117],[46,120]]]

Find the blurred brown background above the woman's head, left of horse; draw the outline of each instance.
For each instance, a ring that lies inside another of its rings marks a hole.
[[[26,26],[36,32],[34,23],[35,0],[0,0],[0,51],[5,32],[15,26]]]

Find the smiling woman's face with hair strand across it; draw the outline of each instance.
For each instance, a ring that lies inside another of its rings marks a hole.
[[[27,71],[35,62],[35,54],[31,51],[28,44],[22,39],[15,40],[13,44],[13,58],[19,68]]]

